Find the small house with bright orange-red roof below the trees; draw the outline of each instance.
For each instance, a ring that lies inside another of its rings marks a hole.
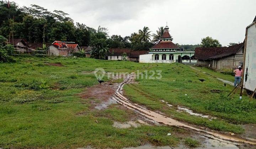
[[[80,47],[74,42],[60,42],[54,41],[49,46],[49,55],[55,56],[71,56],[74,52],[78,52]]]

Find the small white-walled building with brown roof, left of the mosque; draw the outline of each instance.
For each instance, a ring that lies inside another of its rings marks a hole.
[[[110,53],[108,53],[108,60],[122,60],[122,56],[124,53],[127,55],[127,59],[130,56],[131,49],[125,48],[112,48],[109,49]]]

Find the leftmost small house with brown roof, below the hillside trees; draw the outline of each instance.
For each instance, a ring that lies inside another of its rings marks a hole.
[[[7,42],[8,44],[14,45],[14,48],[20,51],[21,53],[29,50],[29,46],[27,45],[26,39],[10,39]],[[33,50],[33,49],[30,49],[30,50]]]

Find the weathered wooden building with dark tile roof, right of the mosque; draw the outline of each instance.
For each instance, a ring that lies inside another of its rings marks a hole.
[[[223,68],[236,68],[244,60],[244,43],[229,47],[195,49],[197,66],[212,67],[216,70]]]

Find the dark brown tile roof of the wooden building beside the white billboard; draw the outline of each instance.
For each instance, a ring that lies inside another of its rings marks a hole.
[[[199,60],[219,59],[225,56],[236,54],[243,46],[244,43],[219,48],[198,47],[195,49],[195,58]]]

